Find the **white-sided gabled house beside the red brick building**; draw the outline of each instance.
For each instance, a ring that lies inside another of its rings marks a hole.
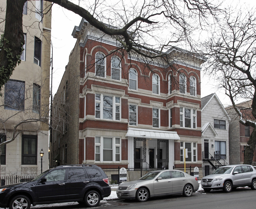
[[[203,166],[228,165],[230,117],[215,93],[203,97],[201,107]]]

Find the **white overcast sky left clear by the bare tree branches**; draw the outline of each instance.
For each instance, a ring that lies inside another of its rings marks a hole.
[[[238,3],[236,3],[238,2]],[[244,2],[244,3],[243,3]],[[236,6],[238,9],[243,5],[250,8],[256,6],[255,0],[228,0],[228,5]],[[74,26],[78,26],[81,21],[79,15],[65,10],[62,7],[54,4],[52,8],[52,30],[51,41],[53,43],[53,95],[58,90],[62,75],[65,71],[65,66],[68,64],[69,54],[74,48],[76,39],[71,33]],[[230,104],[229,98],[226,98],[224,93],[217,91],[212,82],[201,73],[201,97],[207,96],[216,92],[223,105]]]

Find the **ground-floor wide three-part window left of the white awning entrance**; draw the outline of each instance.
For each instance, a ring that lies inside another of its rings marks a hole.
[[[95,136],[95,162],[120,162],[121,138]]]

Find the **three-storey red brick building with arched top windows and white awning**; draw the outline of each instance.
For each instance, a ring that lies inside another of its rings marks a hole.
[[[53,100],[50,166],[169,167],[202,164],[200,65],[171,48],[148,64],[82,19]],[[156,64],[157,63],[157,64]]]

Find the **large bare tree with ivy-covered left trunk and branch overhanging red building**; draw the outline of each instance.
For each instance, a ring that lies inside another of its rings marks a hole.
[[[193,45],[191,34],[216,17],[219,5],[205,0],[76,1],[46,0],[80,15],[117,41],[119,51],[137,54],[146,63],[158,58],[170,64],[166,53],[173,45]],[[4,33],[0,41],[0,90],[20,62],[24,36],[22,11],[26,0],[6,0]],[[51,9],[46,8],[43,14]],[[163,31],[167,34],[163,36]]]

